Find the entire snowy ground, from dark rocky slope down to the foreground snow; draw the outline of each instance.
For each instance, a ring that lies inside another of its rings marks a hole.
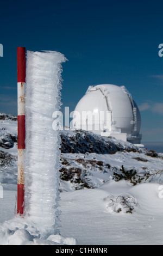
[[[0,127],[1,245],[163,245],[161,153],[62,131],[60,234],[42,237],[15,214],[16,119],[2,118]]]

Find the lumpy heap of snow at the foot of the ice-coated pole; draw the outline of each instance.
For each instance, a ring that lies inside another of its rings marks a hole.
[[[48,236],[47,233],[42,237],[35,223],[19,215],[15,215],[0,226],[0,245],[76,245],[76,243],[76,239],[59,234]]]

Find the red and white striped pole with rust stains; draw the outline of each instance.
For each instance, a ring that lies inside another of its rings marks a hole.
[[[24,209],[26,48],[17,47],[17,213]]]

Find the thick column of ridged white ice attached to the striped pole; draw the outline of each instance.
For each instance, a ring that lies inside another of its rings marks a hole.
[[[52,114],[61,105],[61,63],[54,51],[27,51],[24,215],[42,234],[57,231],[60,134]]]

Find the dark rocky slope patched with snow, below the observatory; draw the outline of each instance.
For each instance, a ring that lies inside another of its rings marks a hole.
[[[0,147],[0,182],[6,186],[16,185],[17,118],[1,113],[0,127],[0,141],[5,137],[5,142]],[[126,172],[136,172],[133,176],[136,181],[153,181],[160,184],[163,181],[161,153],[88,131],[65,130],[61,131],[60,136],[61,192],[97,188],[108,180],[117,180],[117,175],[125,179],[121,172],[122,165]],[[8,149],[7,144],[10,144]]]

